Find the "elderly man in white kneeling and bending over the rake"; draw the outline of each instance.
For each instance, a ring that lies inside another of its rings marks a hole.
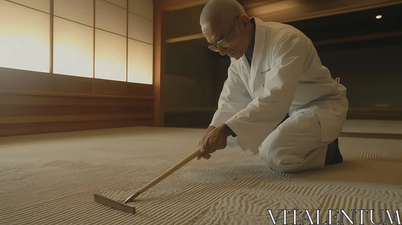
[[[346,88],[321,64],[308,37],[249,18],[235,0],[210,1],[200,25],[209,49],[231,57],[231,64],[197,159],[229,145],[259,153],[278,172],[342,162]]]

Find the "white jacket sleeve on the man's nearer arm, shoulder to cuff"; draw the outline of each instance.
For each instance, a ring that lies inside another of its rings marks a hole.
[[[267,53],[272,54],[272,63],[271,72],[265,77],[264,94],[226,122],[254,154],[290,108],[310,50],[307,43],[299,34],[286,34],[278,39],[272,52]]]

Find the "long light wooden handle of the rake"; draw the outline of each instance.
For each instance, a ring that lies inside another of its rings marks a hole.
[[[159,183],[161,180],[165,179],[168,177],[170,174],[174,173],[176,170],[180,169],[182,166],[187,164],[189,161],[193,160],[195,157],[197,157],[199,154],[201,154],[201,149],[197,149],[195,152],[191,153],[189,156],[185,157],[183,160],[178,162],[176,165],[172,166],[170,169],[168,169],[166,172],[164,172],[162,175],[157,177],[155,180],[149,182],[147,185],[139,189],[137,192],[135,192],[133,195],[131,195],[129,198],[127,198],[124,203],[132,201],[134,198],[136,198],[138,195],[144,193],[146,190],[149,188],[153,187],[157,183]]]

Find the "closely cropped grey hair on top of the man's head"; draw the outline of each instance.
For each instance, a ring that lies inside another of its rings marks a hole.
[[[246,14],[246,11],[236,0],[211,0],[203,9],[199,24],[203,26],[214,19],[224,24],[231,23],[243,14]]]

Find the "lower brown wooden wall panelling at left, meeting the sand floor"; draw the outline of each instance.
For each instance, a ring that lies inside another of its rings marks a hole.
[[[0,137],[153,126],[152,97],[0,93]]]

